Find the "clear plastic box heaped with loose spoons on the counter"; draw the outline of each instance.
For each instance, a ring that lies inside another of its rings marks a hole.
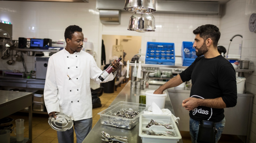
[[[100,122],[102,125],[132,129],[139,122],[140,114],[147,110],[149,106],[150,105],[120,101],[115,105],[99,112],[98,114],[100,115]],[[129,108],[133,109],[134,111],[140,111],[140,113],[132,119],[111,115],[118,110],[129,110]]]

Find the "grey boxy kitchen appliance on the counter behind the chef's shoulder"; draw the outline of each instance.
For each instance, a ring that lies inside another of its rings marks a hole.
[[[36,79],[45,79],[49,57],[36,57]]]

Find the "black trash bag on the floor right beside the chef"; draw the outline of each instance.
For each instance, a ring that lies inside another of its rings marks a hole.
[[[91,88],[91,97],[92,97],[92,108],[101,107],[100,96],[103,94],[104,87],[100,87],[97,89]]]

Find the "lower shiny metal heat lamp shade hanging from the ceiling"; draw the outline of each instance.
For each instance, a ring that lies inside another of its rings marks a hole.
[[[150,13],[134,13],[127,30],[137,32],[155,31],[155,18]]]

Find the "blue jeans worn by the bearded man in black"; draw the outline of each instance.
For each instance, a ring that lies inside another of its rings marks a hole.
[[[225,117],[224,117],[224,119],[215,123],[215,127],[218,130],[218,133],[217,133],[216,138],[215,138],[216,143],[220,139],[220,136],[221,136],[221,134],[223,132],[223,129],[225,127],[225,122],[226,122],[226,120],[225,120]],[[191,136],[192,143],[197,143],[196,141],[197,141],[197,136],[198,136],[198,129],[199,129],[199,121],[196,121],[196,120],[193,120],[193,119],[190,118],[189,119],[189,133],[190,133],[190,136]]]

